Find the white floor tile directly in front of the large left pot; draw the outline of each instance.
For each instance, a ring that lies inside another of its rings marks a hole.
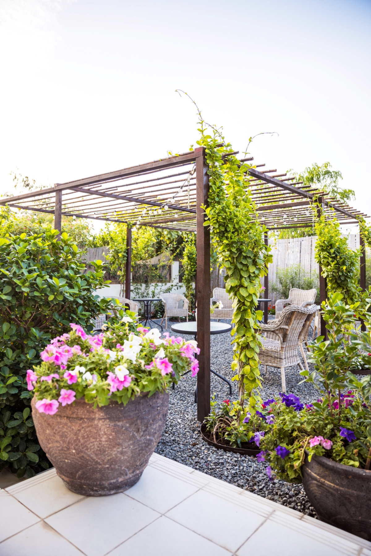
[[[87,556],[102,556],[158,517],[125,494],[112,494],[85,498],[46,522]]]

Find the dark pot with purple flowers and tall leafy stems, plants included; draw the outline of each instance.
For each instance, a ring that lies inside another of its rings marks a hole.
[[[303,482],[319,519],[371,540],[371,376],[358,380],[349,370],[360,354],[371,363],[371,314],[364,312],[361,333],[355,308],[339,293],[323,304],[329,339],[311,344],[315,372],[301,371],[318,399],[304,404],[280,394],[262,408],[258,459],[269,464],[271,480]]]

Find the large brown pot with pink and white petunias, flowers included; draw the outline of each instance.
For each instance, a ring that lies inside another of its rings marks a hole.
[[[122,492],[141,477],[164,430],[169,394],[198,371],[194,341],[121,322],[99,335],[80,325],[51,341],[27,371],[39,443],[73,492]]]

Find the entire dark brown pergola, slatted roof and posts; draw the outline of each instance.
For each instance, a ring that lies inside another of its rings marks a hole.
[[[229,153],[237,155],[238,152]],[[242,158],[241,163],[253,161]],[[258,170],[265,164],[246,171],[246,189],[250,188],[256,214],[268,230],[308,227],[313,224],[311,203],[317,213],[328,219],[336,217],[340,224],[357,224],[367,215],[346,203],[329,197],[316,187],[304,186],[276,169]],[[301,187],[299,187],[301,186]],[[197,250],[197,341],[200,347],[197,375],[197,419],[210,413],[210,229],[204,226],[209,175],[205,148],[83,178],[54,187],[3,198],[0,205],[55,215],[55,228],[61,231],[62,215],[120,222],[127,226],[127,260],[125,295],[130,299],[131,228],[151,226],[165,230],[196,232]],[[268,245],[268,233],[265,233]],[[360,239],[363,245],[362,238]],[[265,276],[268,298],[268,276]],[[365,289],[365,250],[360,260],[360,285]],[[325,279],[320,269],[320,300],[326,299]],[[265,320],[268,306],[265,304]],[[324,322],[321,321],[321,330]]]

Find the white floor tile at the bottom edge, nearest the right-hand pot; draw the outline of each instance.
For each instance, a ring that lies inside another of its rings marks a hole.
[[[357,545],[343,539],[339,542],[340,539],[330,538],[286,514],[275,514],[251,535],[238,550],[238,556],[259,554],[262,547],[269,549],[270,556],[357,556],[359,553]]]

